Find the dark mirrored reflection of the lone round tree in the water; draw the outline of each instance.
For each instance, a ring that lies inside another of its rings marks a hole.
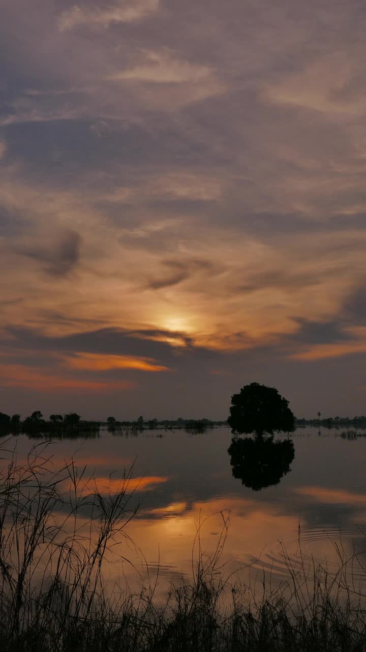
[[[274,441],[272,437],[233,437],[227,452],[231,456],[232,475],[253,491],[278,484],[289,473],[295,456],[292,439]]]

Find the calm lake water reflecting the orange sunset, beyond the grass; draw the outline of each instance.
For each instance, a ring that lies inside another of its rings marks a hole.
[[[232,475],[231,437],[231,430],[222,427],[204,434],[156,429],[52,441],[48,454],[55,464],[72,456],[78,467],[87,464],[102,493],[117,491],[124,469],[134,465],[130,486],[140,506],[126,532],[137,547],[117,542],[117,556],[105,571],[110,580],[134,581],[135,570],[122,557],[143,576],[148,569],[152,581],[158,572],[162,589],[182,575],[190,578],[197,527],[201,524],[203,552],[212,554],[227,518],[224,574],[238,571],[246,581],[250,573],[251,581],[262,582],[265,571],[273,582],[285,579],[289,559],[299,559],[299,536],[307,561],[314,556],[335,570],[337,549],[343,546],[345,556],[356,550],[366,567],[366,431],[322,429],[318,434],[317,428],[299,428],[290,437],[294,458],[289,471],[283,477],[265,473],[278,483],[257,490],[246,486],[251,477],[248,482],[244,474],[243,484]],[[24,435],[11,439],[20,459],[35,443]],[[359,562],[353,573],[356,580],[365,578]]]

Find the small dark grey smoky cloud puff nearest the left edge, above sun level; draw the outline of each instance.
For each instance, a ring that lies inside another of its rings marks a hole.
[[[51,276],[65,276],[76,267],[80,257],[81,236],[76,231],[66,231],[57,241],[31,244],[20,248],[24,256],[42,263]]]

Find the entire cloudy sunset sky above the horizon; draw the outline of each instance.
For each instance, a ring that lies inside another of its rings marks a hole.
[[[0,0],[0,411],[366,413],[361,0]]]

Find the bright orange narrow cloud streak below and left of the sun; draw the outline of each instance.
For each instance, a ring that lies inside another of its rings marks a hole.
[[[132,355],[104,355],[99,353],[77,353],[65,357],[72,369],[106,371],[111,369],[138,369],[141,371],[170,371],[168,367],[156,364],[153,358],[139,358]]]

